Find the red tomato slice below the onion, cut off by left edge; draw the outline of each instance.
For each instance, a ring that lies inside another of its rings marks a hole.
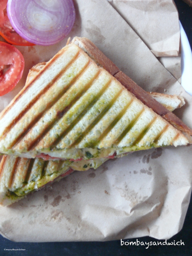
[[[21,79],[24,58],[14,46],[0,42],[0,96],[12,91]]]

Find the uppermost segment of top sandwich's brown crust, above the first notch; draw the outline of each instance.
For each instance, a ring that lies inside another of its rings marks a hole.
[[[80,39],[81,44],[84,46],[84,51],[102,68],[107,70],[112,76],[119,72],[119,68],[109,60],[103,52],[101,52],[95,44],[85,37],[76,37]],[[87,51],[86,51],[87,50]]]

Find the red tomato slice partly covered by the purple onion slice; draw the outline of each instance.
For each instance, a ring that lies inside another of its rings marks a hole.
[[[35,44],[29,43],[15,32],[7,16],[7,1],[0,0],[0,35],[10,44],[32,46]]]

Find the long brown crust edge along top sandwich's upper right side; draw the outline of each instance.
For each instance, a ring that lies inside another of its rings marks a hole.
[[[150,94],[144,91],[137,85],[130,77],[120,71],[116,65],[109,60],[103,52],[101,52],[96,45],[85,37],[75,37],[71,43],[81,47],[96,63],[106,69],[112,76],[114,76],[124,87],[135,95],[141,102],[151,108],[158,115],[162,116],[166,121],[172,124],[176,129],[187,135],[188,139],[192,136],[192,130],[184,124],[177,116],[170,112],[167,108],[153,99]],[[189,140],[192,143],[192,140]]]

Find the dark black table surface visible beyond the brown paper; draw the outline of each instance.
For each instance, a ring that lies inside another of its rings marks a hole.
[[[182,0],[175,0],[178,8],[181,24],[188,36],[190,46],[192,48],[192,7],[189,7]],[[123,240],[127,242],[126,240]],[[174,242],[175,241],[175,242]],[[182,245],[174,245],[176,242],[182,241]],[[129,242],[137,242],[137,239],[129,239]],[[182,230],[167,243],[173,242],[173,245],[163,245],[165,240],[156,240],[151,237],[138,238],[139,242],[147,245],[121,245],[121,241],[109,242],[52,242],[52,243],[16,243],[0,236],[0,256],[85,256],[85,255],[103,255],[103,256],[125,256],[125,255],[192,255],[192,198],[188,207],[187,215]],[[148,243],[154,243],[149,245]],[[161,242],[159,245],[155,245]],[[148,247],[148,248],[147,248]],[[147,249],[146,249],[147,248]],[[15,249],[15,250],[4,250]],[[16,250],[23,249],[23,250]]]

